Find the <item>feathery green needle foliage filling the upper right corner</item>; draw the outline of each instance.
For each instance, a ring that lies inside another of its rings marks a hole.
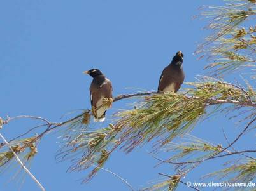
[[[196,53],[210,60],[205,69],[211,69],[213,76],[224,76],[241,67],[255,67],[256,26],[239,27],[246,20],[255,18],[255,2],[228,2],[226,6],[209,6],[202,13],[210,20],[207,29],[211,29],[213,34],[206,37]]]

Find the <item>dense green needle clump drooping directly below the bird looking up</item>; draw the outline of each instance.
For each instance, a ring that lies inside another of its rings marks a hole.
[[[183,94],[166,93],[142,98],[136,109],[118,113],[116,126],[124,129],[125,151],[169,132],[161,145],[191,130],[206,106]]]

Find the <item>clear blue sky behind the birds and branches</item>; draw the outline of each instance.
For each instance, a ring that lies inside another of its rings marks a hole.
[[[162,69],[179,50],[185,55],[185,81],[196,81],[197,74],[205,74],[206,61],[197,60],[193,52],[208,33],[201,30],[207,23],[192,17],[206,3],[223,4],[220,0],[1,1],[0,116],[27,114],[59,122],[71,110],[90,108],[92,79],[82,71],[92,68],[101,69],[111,79],[114,96],[136,92],[126,89],[131,87],[155,90]],[[125,108],[125,102],[114,103],[108,114]],[[11,122],[1,133],[10,139],[34,124],[25,119]],[[239,131],[234,121],[218,115],[199,124],[192,134],[225,144],[221,127],[232,129],[230,139]],[[46,190],[129,190],[104,171],[81,185],[80,178],[88,171],[66,173],[69,162],[55,161],[58,136],[60,133],[52,133],[41,140],[30,166]],[[134,188],[146,187],[148,181],[160,177],[157,173],[173,173],[171,166],[153,168],[157,161],[146,150],[150,147],[137,148],[129,155],[118,150],[104,168],[122,176]],[[18,168],[15,162],[11,173],[0,176],[0,191],[39,190],[22,173],[12,180],[14,168]],[[184,181],[220,168],[217,161],[209,161]],[[190,189],[181,186],[179,190]]]

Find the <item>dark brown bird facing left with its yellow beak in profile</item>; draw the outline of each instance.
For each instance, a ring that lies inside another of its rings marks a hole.
[[[111,81],[99,69],[91,69],[83,73],[89,74],[93,78],[90,84],[90,103],[92,104],[94,121],[103,122],[106,110],[111,107],[113,102]]]

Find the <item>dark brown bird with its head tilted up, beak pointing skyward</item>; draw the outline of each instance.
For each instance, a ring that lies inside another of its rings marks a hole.
[[[159,79],[158,91],[176,92],[183,83],[185,74],[183,71],[183,53],[178,51],[171,63],[164,68]]]

